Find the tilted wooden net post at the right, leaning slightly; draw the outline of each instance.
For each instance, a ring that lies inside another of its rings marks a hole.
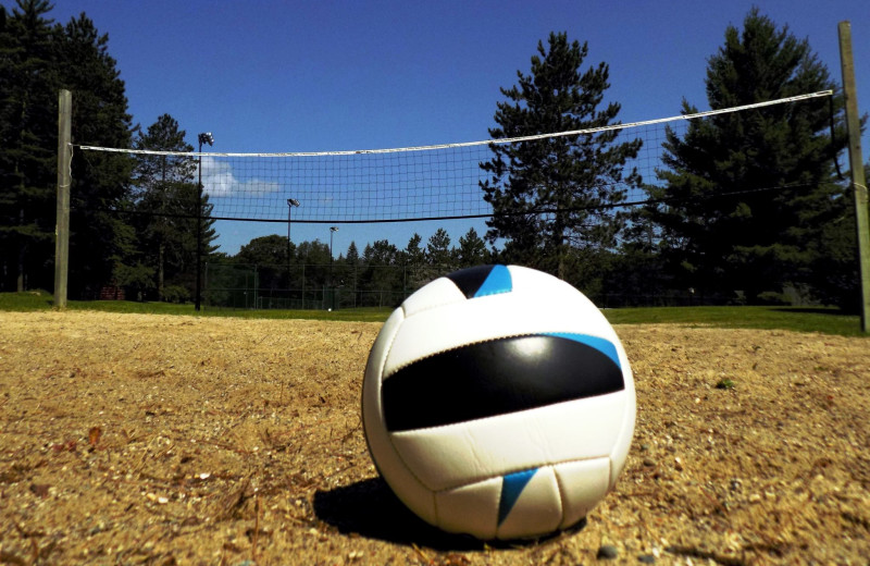
[[[870,221],[868,221],[867,180],[863,177],[861,126],[855,88],[855,61],[852,54],[852,26],[840,22],[840,62],[843,67],[843,95],[846,102],[852,188],[855,195],[855,224],[858,231],[858,269],[861,287],[861,331],[870,332]]]

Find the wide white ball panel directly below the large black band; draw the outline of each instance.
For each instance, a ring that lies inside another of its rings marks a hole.
[[[444,490],[525,468],[608,456],[622,430],[624,391],[445,427],[391,433],[417,478]]]

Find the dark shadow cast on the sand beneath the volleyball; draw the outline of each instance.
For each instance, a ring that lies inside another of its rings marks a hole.
[[[467,534],[450,534],[437,529],[414,515],[393,493],[380,477],[358,481],[350,485],[314,493],[314,514],[344,534],[356,533],[403,545],[415,544],[436,551],[484,551],[493,547],[518,547],[538,544],[559,538],[521,541],[481,541]],[[568,533],[577,532],[586,525],[582,520]]]

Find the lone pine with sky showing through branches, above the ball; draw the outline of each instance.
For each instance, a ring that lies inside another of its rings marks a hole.
[[[538,42],[531,74],[517,73],[519,85],[501,89],[489,130],[495,138],[519,137],[618,124],[620,104],[599,109],[610,86],[606,63],[581,71],[587,45],[550,34]],[[494,157],[481,163],[490,177],[481,182],[494,217],[487,221],[490,243],[506,239],[505,255],[564,279],[573,248],[609,248],[622,226],[611,205],[638,186],[635,170],[624,174],[641,140],[616,143],[616,131],[550,137],[522,144],[492,145]]]

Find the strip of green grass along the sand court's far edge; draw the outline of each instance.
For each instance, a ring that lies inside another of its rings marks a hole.
[[[53,308],[53,299],[45,291],[0,293],[0,310],[37,311]],[[333,312],[325,310],[235,310],[203,307],[197,313],[192,305],[135,303],[130,300],[71,300],[71,310],[137,312],[145,315],[189,315],[201,317],[236,317],[245,319],[309,319],[383,322],[389,308],[353,308]],[[821,332],[844,336],[866,336],[857,316],[843,315],[822,307],[645,307],[604,310],[612,324],[689,324],[733,329],[792,330]]]

